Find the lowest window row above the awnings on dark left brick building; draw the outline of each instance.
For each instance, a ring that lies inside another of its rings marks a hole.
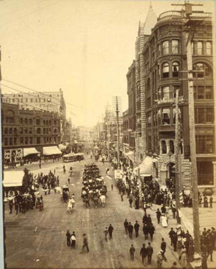
[[[61,140],[60,137],[37,137],[36,138],[36,144],[41,144],[41,143],[59,143]],[[28,145],[28,144],[33,144],[33,137],[20,137],[19,138],[20,145]],[[4,146],[15,146],[19,145],[18,144],[18,138],[16,137],[5,137],[4,138]]]

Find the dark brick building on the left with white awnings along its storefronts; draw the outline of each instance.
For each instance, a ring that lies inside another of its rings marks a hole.
[[[26,154],[61,142],[60,117],[57,112],[19,109],[18,104],[1,103],[3,162],[18,163]]]

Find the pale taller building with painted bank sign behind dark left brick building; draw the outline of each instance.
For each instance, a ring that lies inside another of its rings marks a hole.
[[[58,112],[61,124],[61,142],[66,133],[66,104],[63,91],[4,93],[1,102],[19,104],[20,109],[35,109],[41,111]]]

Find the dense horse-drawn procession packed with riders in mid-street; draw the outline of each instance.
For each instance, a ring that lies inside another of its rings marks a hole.
[[[90,200],[94,206],[105,205],[107,186],[100,175],[98,167],[93,163],[85,165],[82,173],[81,197],[86,207],[90,207]]]

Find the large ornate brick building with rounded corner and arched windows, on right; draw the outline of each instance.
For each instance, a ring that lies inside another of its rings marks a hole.
[[[150,6],[149,12],[152,9]],[[152,11],[151,11],[152,13]],[[197,16],[197,14],[196,14]],[[210,16],[210,14],[209,14]],[[147,19],[147,18],[146,18]],[[141,150],[152,158],[152,174],[162,185],[174,179],[175,93],[179,89],[181,169],[191,185],[186,37],[178,12],[163,12],[150,34],[139,25],[136,42],[137,102],[140,96]],[[192,43],[198,185],[216,186],[214,62],[211,17],[196,27]],[[137,105],[139,115],[139,105]],[[143,117],[142,117],[143,115]],[[144,124],[144,126],[143,126]],[[138,158],[139,158],[138,152]],[[149,158],[148,158],[149,160]],[[140,158],[142,161],[142,158]]]

